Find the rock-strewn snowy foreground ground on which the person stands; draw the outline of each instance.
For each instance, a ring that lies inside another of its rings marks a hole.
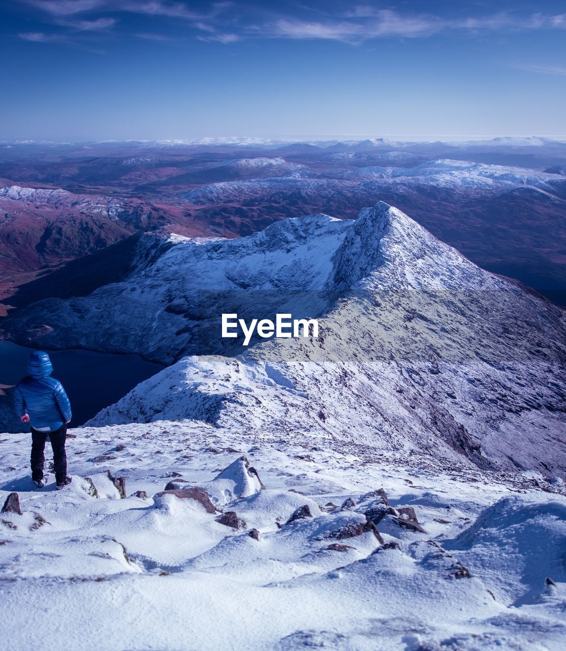
[[[33,488],[27,435],[2,435],[0,498],[22,509],[0,523],[7,648],[565,647],[560,481],[194,421],[70,434],[60,492]],[[169,481],[215,508],[155,496]]]

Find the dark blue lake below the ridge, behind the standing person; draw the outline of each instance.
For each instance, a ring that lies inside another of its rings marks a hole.
[[[32,351],[33,348],[0,340],[0,384],[16,384],[27,375],[27,358]],[[100,409],[120,400],[135,385],[164,368],[139,355],[79,349],[46,352],[53,363],[51,375],[62,382],[71,401],[71,427],[84,424]]]

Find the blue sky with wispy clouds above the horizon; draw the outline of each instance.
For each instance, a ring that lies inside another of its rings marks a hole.
[[[563,1],[0,7],[0,139],[566,137]]]

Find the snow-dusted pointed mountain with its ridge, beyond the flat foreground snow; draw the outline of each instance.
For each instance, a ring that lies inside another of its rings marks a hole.
[[[320,336],[237,347],[220,339],[222,311],[317,316]],[[387,204],[241,240],[177,238],[124,283],[42,301],[11,326],[36,345],[200,353],[92,424],[190,418],[480,467],[566,468],[563,311]]]

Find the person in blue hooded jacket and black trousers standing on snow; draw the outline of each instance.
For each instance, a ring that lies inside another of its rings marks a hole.
[[[38,488],[45,486],[44,463],[47,437],[53,450],[57,490],[71,483],[67,476],[65,441],[71,420],[71,405],[59,380],[51,378],[49,355],[36,350],[29,356],[27,372],[16,385],[14,406],[21,422],[31,424],[31,478]]]

